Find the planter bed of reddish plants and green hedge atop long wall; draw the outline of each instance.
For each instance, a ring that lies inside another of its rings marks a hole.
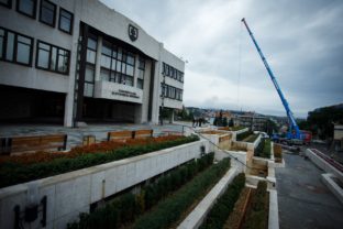
[[[198,137],[158,137],[126,142],[102,142],[66,153],[37,152],[0,161],[0,187],[54,176],[126,157],[198,141]]]

